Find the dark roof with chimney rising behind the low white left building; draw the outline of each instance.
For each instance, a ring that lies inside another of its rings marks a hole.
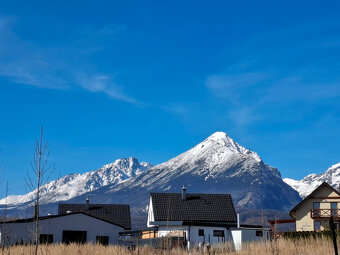
[[[65,214],[67,211],[72,213],[84,212],[96,218],[105,220],[124,229],[131,229],[130,206],[118,204],[59,204],[58,214]]]

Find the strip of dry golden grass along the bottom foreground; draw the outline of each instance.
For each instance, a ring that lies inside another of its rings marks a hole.
[[[338,243],[339,246],[339,243]],[[33,254],[32,246],[13,246],[6,248],[0,255],[30,255]],[[163,251],[150,247],[141,247],[138,250],[130,251],[119,246],[100,245],[42,245],[39,248],[39,255],[201,255],[208,254],[207,250],[202,253],[199,250],[186,252],[183,249]],[[301,239],[290,241],[279,239],[276,242],[249,243],[243,247],[241,252],[235,253],[230,250],[229,245],[218,249],[210,249],[210,254],[237,254],[237,255],[327,255],[334,254],[333,245],[330,239]]]

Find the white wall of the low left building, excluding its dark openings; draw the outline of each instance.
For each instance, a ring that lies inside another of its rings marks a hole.
[[[97,236],[108,237],[109,244],[118,243],[118,233],[122,227],[97,219],[95,217],[75,213],[58,217],[44,218],[39,222],[41,235],[53,235],[53,243],[61,243],[63,231],[86,231],[86,242],[96,243]],[[0,237],[6,238],[7,244],[33,242],[34,221],[9,222],[0,225]]]

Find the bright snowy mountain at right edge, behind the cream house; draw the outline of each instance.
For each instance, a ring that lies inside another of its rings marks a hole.
[[[338,188],[340,185],[340,163],[331,166],[323,174],[309,174],[301,180],[284,178],[283,181],[298,191],[302,198],[308,196],[324,181],[334,188]]]

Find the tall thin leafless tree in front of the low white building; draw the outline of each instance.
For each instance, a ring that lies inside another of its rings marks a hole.
[[[31,161],[31,173],[27,172],[26,183],[34,191],[34,229],[33,240],[35,244],[34,254],[38,254],[39,247],[39,210],[41,200],[41,187],[47,183],[53,174],[55,167],[48,162],[49,146],[44,140],[44,130],[41,127],[40,138],[36,141],[33,161]]]

